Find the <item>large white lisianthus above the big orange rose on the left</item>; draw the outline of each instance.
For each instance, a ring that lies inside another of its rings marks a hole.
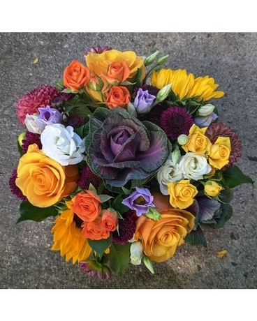
[[[43,152],[63,166],[80,163],[84,156],[85,142],[73,131],[72,126],[62,124],[45,126],[41,133]]]

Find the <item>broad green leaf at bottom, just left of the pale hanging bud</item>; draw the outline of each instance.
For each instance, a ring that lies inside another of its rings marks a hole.
[[[122,272],[129,265],[129,257],[130,257],[130,248],[131,244],[126,243],[122,244],[112,244],[110,246],[110,253],[108,253],[107,257],[110,260],[110,269],[115,273]]]

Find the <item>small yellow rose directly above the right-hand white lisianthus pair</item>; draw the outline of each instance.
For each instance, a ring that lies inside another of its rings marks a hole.
[[[193,151],[196,154],[205,154],[210,151],[212,143],[209,138],[205,136],[207,127],[199,128],[196,124],[193,124],[189,130],[189,141],[182,145],[184,151]]]

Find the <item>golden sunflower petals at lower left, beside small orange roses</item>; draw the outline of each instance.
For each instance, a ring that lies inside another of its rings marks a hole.
[[[54,221],[51,232],[54,234],[52,251],[60,251],[61,256],[66,256],[66,262],[72,259],[73,264],[87,260],[91,253],[91,247],[87,239],[81,236],[81,228],[74,221],[74,212],[71,209],[72,202],[66,202],[68,209]]]

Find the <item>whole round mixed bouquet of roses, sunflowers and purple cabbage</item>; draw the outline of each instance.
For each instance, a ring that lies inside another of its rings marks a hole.
[[[242,142],[219,123],[212,77],[161,68],[168,55],[92,47],[55,86],[17,102],[24,124],[10,189],[20,218],[52,217],[53,251],[89,276],[207,246],[233,209],[232,189],[254,181],[235,163]]]

